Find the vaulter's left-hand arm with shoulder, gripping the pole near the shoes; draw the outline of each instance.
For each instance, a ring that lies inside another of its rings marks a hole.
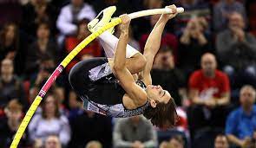
[[[121,87],[126,91],[128,97],[133,100],[134,106],[141,106],[147,100],[147,94],[141,87],[136,85],[132,74],[126,68],[126,47],[128,44],[128,28],[131,19],[128,15],[121,17],[121,35],[115,50],[114,72],[115,76],[120,80]],[[136,63],[135,63],[136,64]]]

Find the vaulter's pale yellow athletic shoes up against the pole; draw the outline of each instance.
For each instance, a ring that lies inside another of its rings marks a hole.
[[[88,23],[88,29],[91,33],[95,32],[97,29],[101,28],[104,26],[106,23],[109,23],[111,20],[111,16],[115,13],[116,7],[115,6],[110,6],[106,8],[105,10],[102,10],[98,16],[95,17],[90,23]],[[102,16],[102,20],[99,22],[98,17]],[[108,29],[110,33],[114,33],[114,28]]]

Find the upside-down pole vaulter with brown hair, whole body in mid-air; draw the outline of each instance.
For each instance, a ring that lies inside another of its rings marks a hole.
[[[163,29],[177,14],[174,5],[169,8],[175,13],[161,15],[148,37],[143,55],[127,45],[131,20],[128,15],[122,15],[119,41],[109,32],[99,37],[108,58],[81,61],[72,68],[69,82],[84,101],[85,109],[121,118],[143,114],[153,125],[174,126],[177,120],[174,99],[161,86],[153,86],[150,76]],[[97,24],[90,31],[108,23],[114,12],[115,7],[104,10],[102,20],[99,23],[94,20]],[[139,74],[139,80],[132,74]]]

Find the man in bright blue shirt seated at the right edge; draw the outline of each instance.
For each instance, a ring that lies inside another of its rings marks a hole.
[[[240,107],[226,119],[226,135],[234,145],[249,147],[256,131],[255,89],[246,85],[240,89]],[[255,138],[254,138],[255,139]]]

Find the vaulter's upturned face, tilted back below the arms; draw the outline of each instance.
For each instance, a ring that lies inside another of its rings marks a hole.
[[[146,92],[150,100],[167,103],[171,99],[171,94],[161,86],[148,85]]]

